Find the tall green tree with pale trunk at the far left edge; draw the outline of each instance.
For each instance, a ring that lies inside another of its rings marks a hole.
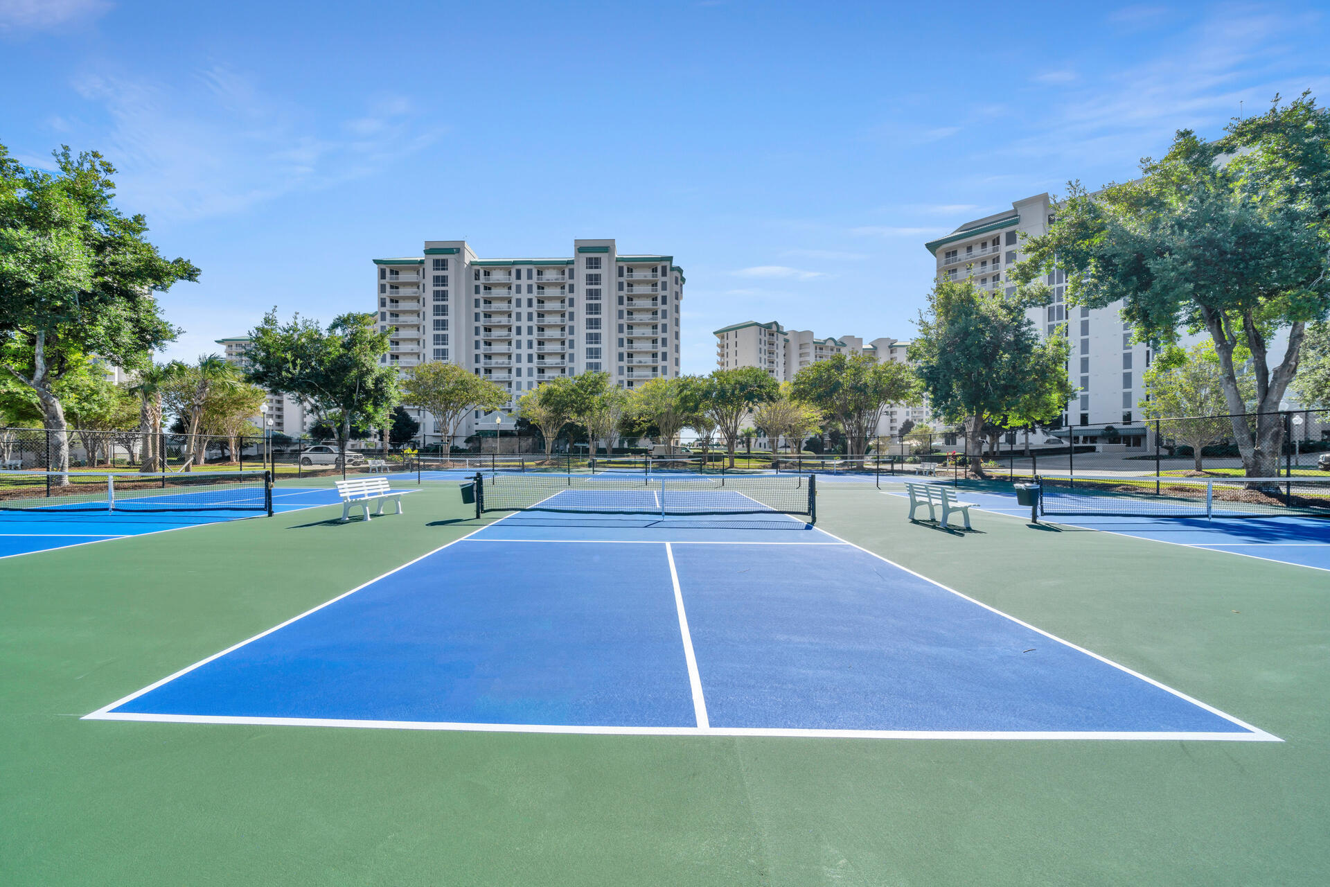
[[[56,173],[24,168],[0,145],[0,371],[32,390],[65,471],[69,440],[56,384],[92,355],[146,366],[176,338],[154,293],[197,281],[165,259],[142,215],[113,205],[114,168],[96,152],[55,152]]]

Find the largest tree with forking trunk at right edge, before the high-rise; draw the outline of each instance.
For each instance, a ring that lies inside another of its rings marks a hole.
[[[1048,234],[1028,243],[1015,279],[1055,263],[1068,302],[1105,307],[1140,338],[1164,346],[1205,330],[1224,370],[1233,438],[1248,476],[1279,465],[1279,402],[1298,370],[1306,324],[1330,313],[1330,114],[1307,93],[1233,121],[1208,142],[1178,130],[1142,177],[1091,194],[1072,184]],[[1289,344],[1271,367],[1270,338]],[[1249,423],[1234,351],[1245,347],[1256,384]]]

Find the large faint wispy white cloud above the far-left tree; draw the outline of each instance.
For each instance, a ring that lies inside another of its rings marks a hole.
[[[282,194],[327,189],[439,136],[406,125],[410,102],[402,97],[376,101],[370,114],[311,120],[219,66],[170,85],[94,76],[74,88],[110,118],[109,133],[96,142],[120,170],[121,199],[149,218],[226,215]]]

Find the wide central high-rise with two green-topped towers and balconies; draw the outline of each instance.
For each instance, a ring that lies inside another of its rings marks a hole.
[[[426,241],[423,255],[374,265],[379,328],[392,335],[383,362],[467,367],[511,392],[508,410],[555,376],[598,370],[632,388],[678,375],[684,271],[672,255],[592,239],[564,258],[483,259],[466,241]]]

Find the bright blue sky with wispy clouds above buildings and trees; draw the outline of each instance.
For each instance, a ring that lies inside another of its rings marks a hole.
[[[0,0],[0,142],[97,149],[202,269],[192,359],[262,313],[371,310],[370,259],[575,237],[685,269],[684,370],[779,319],[908,338],[923,242],[1130,177],[1240,102],[1330,102],[1327,7]]]

